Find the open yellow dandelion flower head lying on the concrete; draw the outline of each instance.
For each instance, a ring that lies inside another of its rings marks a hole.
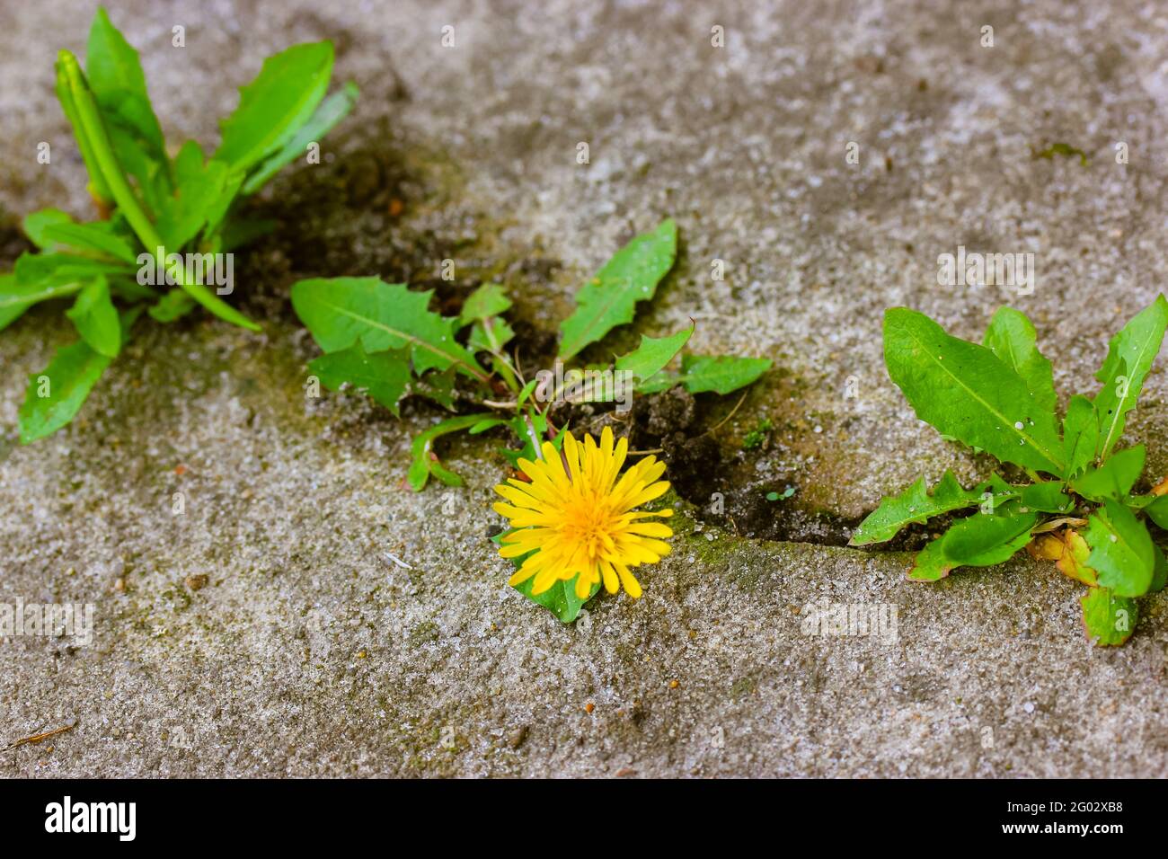
[[[557,581],[578,576],[576,596],[580,600],[586,600],[600,581],[610,594],[619,590],[619,581],[630,596],[641,595],[630,568],[660,561],[669,553],[662,538],[673,536],[662,522],[645,520],[670,517],[673,511],[634,512],[634,507],[665,494],[669,484],[658,480],[665,463],[652,456],[618,480],[627,453],[628,442],[621,438],[614,448],[609,427],[600,434],[599,445],[590,435],[580,444],[569,432],[563,456],[544,442],[542,460],[519,460],[530,483],[510,478],[495,486],[510,504],[500,501],[494,510],[516,528],[502,539],[499,553],[503,557],[535,553],[510,577],[510,584],[535,576],[531,593],[542,594]]]

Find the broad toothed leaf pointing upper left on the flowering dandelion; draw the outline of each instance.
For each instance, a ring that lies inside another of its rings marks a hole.
[[[419,375],[453,366],[486,380],[474,355],[454,340],[453,320],[427,310],[430,296],[376,277],[336,277],[300,280],[292,286],[292,306],[325,352],[359,340],[367,352],[409,346]]]

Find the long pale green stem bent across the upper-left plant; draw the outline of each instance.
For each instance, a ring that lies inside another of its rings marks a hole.
[[[137,234],[138,240],[146,250],[151,254],[162,254],[165,258],[166,249],[162,245],[162,237],[154,229],[154,224],[145,210],[142,210],[141,205],[138,202],[138,196],[134,194],[133,188],[130,187],[130,182],[126,181],[121,165],[118,164],[118,159],[113,154],[113,147],[110,145],[110,138],[105,133],[105,125],[102,124],[97,103],[93,101],[93,93],[89,90],[89,84],[85,82],[85,76],[81,70],[77,57],[68,50],[62,50],[58,57],[58,74],[64,78],[72,99],[74,110],[77,113],[77,119],[89,141],[93,160],[97,162],[100,179],[105,181],[114,203],[117,203],[121,214],[126,216],[126,221],[130,222],[131,228],[133,228],[134,234]],[[256,323],[220,299],[203,284],[187,283],[185,271],[175,270],[171,275],[187,295],[220,319],[224,319],[249,331],[260,331],[260,327]]]

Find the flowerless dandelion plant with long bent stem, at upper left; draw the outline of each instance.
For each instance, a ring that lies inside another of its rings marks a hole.
[[[229,275],[231,251],[271,227],[241,215],[241,200],[315,145],[355,103],[352,83],[325,98],[332,68],[329,42],[267,57],[241,90],[239,106],[223,120],[220,147],[208,159],[193,140],[168,151],[138,51],[105,9],[93,18],[84,70],[71,53],[60,53],[57,98],[100,216],[79,223],[58,209],[28,215],[25,233],[39,251],[21,255],[11,273],[0,275],[0,328],[34,304],[70,298],[65,316],[78,334],[30,376],[21,442],[74,418],[144,310],[155,321],[173,323],[197,304],[259,330],[220,297],[232,284],[216,279],[213,289],[206,279],[210,266]]]

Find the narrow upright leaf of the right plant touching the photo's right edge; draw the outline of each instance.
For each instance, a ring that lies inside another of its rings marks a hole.
[[[1099,415],[1097,452],[1100,459],[1107,458],[1124,435],[1125,416],[1135,406],[1143,380],[1160,353],[1166,327],[1168,300],[1161,295],[1111,339],[1107,358],[1096,373],[1096,379],[1103,382],[1103,388],[1094,399],[1096,413]]]

